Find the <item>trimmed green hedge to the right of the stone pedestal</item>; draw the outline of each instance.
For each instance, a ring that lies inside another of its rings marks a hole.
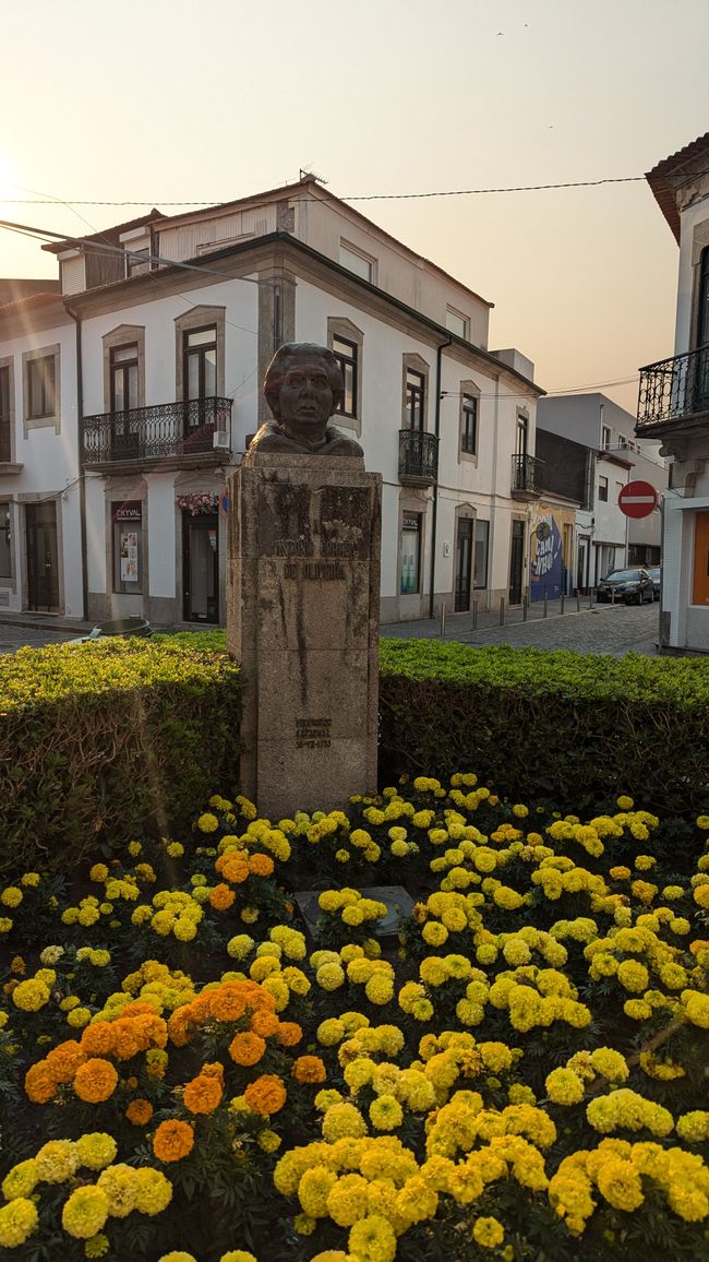
[[[709,661],[380,645],[380,779],[474,770],[496,791],[584,809],[618,791],[648,810],[709,801]]]

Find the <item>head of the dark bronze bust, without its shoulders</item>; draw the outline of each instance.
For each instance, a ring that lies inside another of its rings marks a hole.
[[[344,390],[339,365],[327,346],[288,342],[274,355],[264,394],[275,420],[289,438],[322,439]]]

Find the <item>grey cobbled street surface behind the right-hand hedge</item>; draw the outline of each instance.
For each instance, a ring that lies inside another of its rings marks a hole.
[[[566,598],[564,612],[560,601],[549,601],[548,616],[544,606],[531,604],[526,622],[519,608],[505,611],[505,626],[500,613],[479,612],[473,631],[472,613],[454,613],[445,618],[444,640],[460,644],[506,644],[516,649],[573,649],[577,652],[607,652],[622,656],[640,652],[647,658],[659,655],[657,623],[660,606],[643,604],[593,604],[582,597],[577,612],[577,598]],[[387,622],[381,627],[382,637],[439,640],[440,618],[416,622]]]

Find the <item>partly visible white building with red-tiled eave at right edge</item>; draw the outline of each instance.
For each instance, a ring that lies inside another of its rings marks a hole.
[[[660,645],[709,652],[709,133],[647,182],[680,247],[675,353],[641,370],[636,425],[670,459]]]

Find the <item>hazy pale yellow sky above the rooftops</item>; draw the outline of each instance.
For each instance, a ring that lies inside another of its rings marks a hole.
[[[635,413],[677,247],[642,175],[709,130],[706,0],[3,0],[0,216],[83,233],[300,168],[495,303],[548,390]],[[23,204],[44,197],[145,207]],[[79,217],[81,216],[81,217]],[[0,232],[0,275],[54,260]],[[606,382],[633,379],[613,387]]]

